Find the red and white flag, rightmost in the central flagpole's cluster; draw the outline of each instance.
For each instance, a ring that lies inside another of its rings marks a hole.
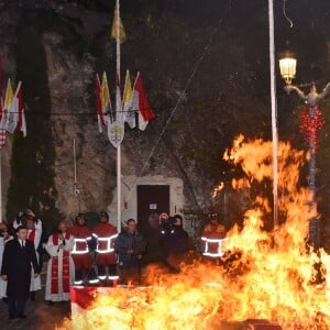
[[[141,131],[144,131],[148,122],[155,118],[155,114],[144,92],[140,73],[138,73],[138,77],[133,87],[132,110],[139,111],[139,129]]]

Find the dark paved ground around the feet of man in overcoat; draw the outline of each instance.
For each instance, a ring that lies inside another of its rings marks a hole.
[[[42,278],[45,283],[45,278]],[[28,301],[25,315],[28,319],[8,319],[7,305],[0,300],[1,330],[53,330],[70,316],[69,302],[47,306],[44,300],[44,289],[36,293],[35,301]]]

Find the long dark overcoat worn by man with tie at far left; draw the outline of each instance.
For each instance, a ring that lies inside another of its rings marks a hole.
[[[33,242],[26,240],[24,248],[21,246],[18,238],[6,243],[1,275],[8,276],[8,297],[29,297],[32,266],[37,273],[38,264]]]

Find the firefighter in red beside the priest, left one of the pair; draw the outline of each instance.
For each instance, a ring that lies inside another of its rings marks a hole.
[[[72,252],[75,262],[75,285],[82,285],[87,277],[88,284],[97,284],[99,279],[94,270],[94,261],[89,252],[92,242],[91,232],[86,226],[84,213],[76,217],[76,224],[69,232],[75,238],[75,245]]]

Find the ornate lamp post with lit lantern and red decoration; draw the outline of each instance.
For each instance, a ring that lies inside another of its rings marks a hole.
[[[296,65],[297,59],[293,57],[285,57],[279,59],[280,75],[284,78],[286,86],[285,91],[290,94],[296,91],[298,97],[308,105],[308,112],[306,113],[306,127],[307,130],[307,142],[309,147],[309,177],[308,177],[308,188],[309,188],[309,208],[310,208],[310,219],[309,219],[309,243],[315,248],[320,248],[320,223],[317,218],[317,198],[316,198],[316,153],[317,153],[317,132],[321,129],[323,122],[320,117],[320,110],[318,103],[320,100],[326,98],[330,94],[330,82],[326,86],[321,94],[316,90],[315,84],[311,85],[308,95],[299,89],[297,86],[292,84],[292,80],[296,76]]]

